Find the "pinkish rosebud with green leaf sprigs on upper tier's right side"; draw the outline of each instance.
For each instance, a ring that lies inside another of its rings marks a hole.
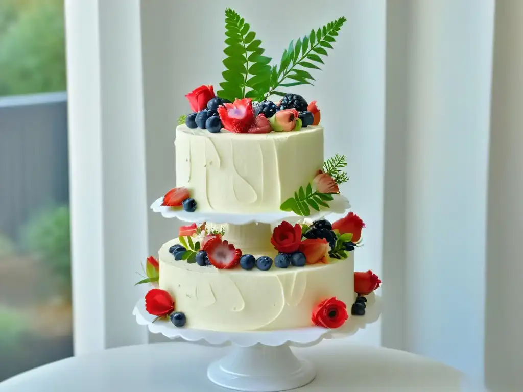
[[[294,195],[280,205],[282,211],[292,211],[300,216],[311,215],[311,208],[320,211],[329,208],[329,202],[334,200],[333,195],[339,194],[338,185],[349,180],[343,168],[347,166],[345,155],[336,154],[323,163],[305,187],[300,187]]]

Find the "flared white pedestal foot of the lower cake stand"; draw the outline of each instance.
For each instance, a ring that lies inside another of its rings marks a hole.
[[[207,376],[228,389],[278,392],[309,384],[316,372],[309,361],[299,360],[288,344],[255,344],[235,347],[209,366]]]

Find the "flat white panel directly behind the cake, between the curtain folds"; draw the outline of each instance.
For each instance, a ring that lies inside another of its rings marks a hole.
[[[224,70],[224,10],[235,9],[263,41],[265,54],[279,61],[297,39],[345,15],[335,49],[316,86],[293,91],[318,100],[326,129],[325,155],[346,154],[350,181],[342,187],[368,228],[366,246],[358,249],[356,268],[381,274],[385,1],[351,0],[336,7],[313,0],[266,1],[253,7],[240,0],[142,2],[147,198],[154,200],[174,183],[176,119],[189,110],[184,98],[201,84],[217,89]],[[276,12],[275,9],[278,11]],[[197,19],[197,20],[196,20]],[[176,223],[149,215],[150,251],[175,236]],[[380,322],[357,339],[378,344]]]

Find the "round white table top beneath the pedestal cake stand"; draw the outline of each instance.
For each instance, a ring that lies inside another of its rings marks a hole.
[[[226,392],[206,376],[207,365],[228,348],[172,342],[135,345],[77,356],[0,383],[0,392]],[[478,392],[463,375],[410,353],[339,340],[295,348],[317,376],[297,392]]]

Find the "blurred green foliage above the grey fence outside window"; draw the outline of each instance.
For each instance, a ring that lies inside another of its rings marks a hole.
[[[0,97],[64,91],[63,0],[0,0]]]

